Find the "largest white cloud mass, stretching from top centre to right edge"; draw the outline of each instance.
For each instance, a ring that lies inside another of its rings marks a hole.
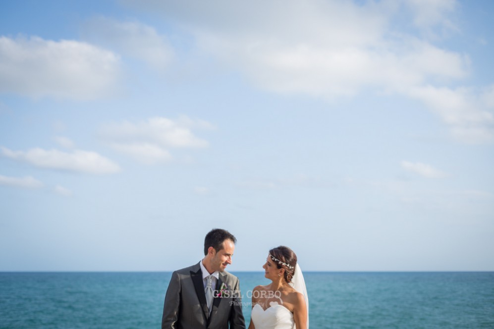
[[[468,77],[470,58],[427,37],[459,32],[456,0],[125,2],[179,21],[199,49],[263,89],[326,99],[397,93],[423,101],[459,141],[494,141],[494,87],[447,87]],[[400,23],[410,17],[415,30]]]

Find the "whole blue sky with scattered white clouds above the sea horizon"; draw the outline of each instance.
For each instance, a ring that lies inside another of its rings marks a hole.
[[[494,271],[493,1],[1,1],[0,271]]]

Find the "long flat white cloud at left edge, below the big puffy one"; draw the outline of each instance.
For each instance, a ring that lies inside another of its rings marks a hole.
[[[36,167],[67,170],[89,174],[113,174],[120,167],[104,156],[91,151],[73,150],[62,152],[56,149],[32,148],[27,151],[13,151],[0,147],[4,156]]]

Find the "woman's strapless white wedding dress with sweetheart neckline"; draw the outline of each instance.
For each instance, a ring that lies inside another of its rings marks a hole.
[[[270,305],[266,310],[259,304],[256,304],[252,309],[251,318],[256,329],[295,328],[293,313],[277,302],[271,302]]]

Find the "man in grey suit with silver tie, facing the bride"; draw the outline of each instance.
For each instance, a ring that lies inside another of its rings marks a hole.
[[[204,239],[204,258],[173,272],[166,290],[162,329],[245,329],[238,278],[225,271],[236,238],[214,229]]]

